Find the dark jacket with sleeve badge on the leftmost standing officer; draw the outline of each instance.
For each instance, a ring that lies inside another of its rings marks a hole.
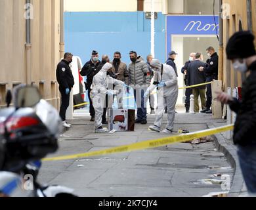
[[[74,77],[72,75],[72,71],[69,66],[69,62],[66,60],[62,60],[56,69],[56,78],[58,84],[60,85],[60,89],[65,90],[67,88],[72,89],[75,84]]]

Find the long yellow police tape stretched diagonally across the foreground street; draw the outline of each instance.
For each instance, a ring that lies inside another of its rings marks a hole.
[[[45,159],[42,159],[42,161],[60,161],[60,160],[66,160],[66,159],[79,159],[79,158],[87,158],[92,156],[104,156],[109,154],[131,152],[135,150],[144,150],[148,148],[156,148],[156,147],[166,146],[167,144],[173,144],[177,142],[187,142],[189,140],[193,140],[194,138],[207,137],[207,136],[214,135],[216,133],[223,133],[226,131],[230,131],[232,129],[234,129],[234,125],[226,125],[223,127],[217,127],[215,129],[207,129],[204,131],[176,135],[173,137],[158,138],[156,140],[146,140],[143,142],[137,142],[137,143],[129,144],[125,146],[117,146],[117,147],[109,148],[106,150],[98,150],[95,152],[86,152],[83,154],[74,154],[69,156],[60,156],[56,158],[45,158]]]

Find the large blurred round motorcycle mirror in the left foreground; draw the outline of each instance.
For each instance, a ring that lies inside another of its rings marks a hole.
[[[21,86],[15,90],[14,106],[16,108],[33,107],[40,100],[41,96],[36,87]]]

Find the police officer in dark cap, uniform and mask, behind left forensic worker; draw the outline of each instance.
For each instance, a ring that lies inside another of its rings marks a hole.
[[[98,74],[100,70],[98,70],[98,66],[100,65],[100,60],[98,59],[98,52],[93,51],[91,53],[91,60],[89,60],[85,66],[83,66],[80,74],[81,76],[87,76],[87,81],[85,83],[85,87],[88,90],[88,98],[90,101],[90,115],[91,121],[95,121],[95,109],[93,108],[93,101],[91,100],[91,85],[93,84],[93,77]]]

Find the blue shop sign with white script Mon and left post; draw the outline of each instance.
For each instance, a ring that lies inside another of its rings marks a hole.
[[[219,16],[167,16],[167,53],[171,51],[171,35],[216,33],[219,33]]]

